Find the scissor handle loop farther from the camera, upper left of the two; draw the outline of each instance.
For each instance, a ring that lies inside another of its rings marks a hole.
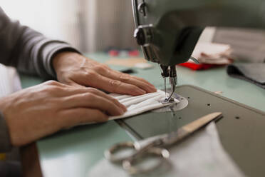
[[[116,143],[114,146],[111,146],[109,149],[107,149],[104,153],[105,158],[107,158],[109,161],[113,162],[113,163],[121,163],[123,161],[125,161],[125,159],[130,158],[130,156],[122,156],[119,157],[117,155],[115,155],[115,153],[117,153],[118,151],[121,151],[125,148],[132,148],[135,150],[135,143],[133,143],[132,141],[125,141],[125,142],[120,142],[120,143]]]

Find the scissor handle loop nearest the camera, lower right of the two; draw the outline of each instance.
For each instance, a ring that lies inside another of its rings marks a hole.
[[[139,164],[137,165],[137,163],[144,162],[147,156],[158,156],[160,157],[160,160],[157,163],[152,164],[152,166],[146,167]],[[165,163],[169,156],[170,153],[165,148],[148,148],[145,153],[140,153],[138,156],[125,159],[125,161],[123,161],[123,168],[130,174],[147,173],[154,171],[156,168],[162,166],[162,163]]]

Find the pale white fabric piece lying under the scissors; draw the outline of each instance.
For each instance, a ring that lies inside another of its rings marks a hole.
[[[148,138],[142,143],[146,141]],[[165,163],[165,166],[160,166],[152,173],[140,174],[139,176],[244,176],[244,173],[240,171],[237,164],[222,147],[217,128],[213,122],[181,143],[172,146],[169,151],[169,165],[166,166]],[[123,169],[122,165],[111,163],[103,158],[88,171],[86,176],[129,177],[130,175]]]

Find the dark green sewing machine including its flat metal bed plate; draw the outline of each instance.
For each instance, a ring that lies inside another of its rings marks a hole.
[[[135,138],[142,139],[176,131],[200,116],[220,111],[224,118],[217,123],[217,129],[222,146],[244,173],[263,176],[265,113],[197,86],[182,85],[176,89],[176,64],[188,59],[196,61],[191,54],[206,26],[264,29],[265,1],[133,0],[132,4],[137,44],[145,59],[160,64],[165,86],[166,79],[170,79],[171,90],[165,91],[171,93],[165,101],[177,98],[181,108],[152,111],[118,123]],[[197,75],[193,75],[194,80]],[[226,76],[224,73],[222,77]],[[202,86],[207,77],[197,79],[197,85]],[[227,83],[223,80],[218,84]],[[246,146],[249,143],[253,146]]]

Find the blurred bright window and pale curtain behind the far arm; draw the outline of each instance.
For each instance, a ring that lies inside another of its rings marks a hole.
[[[130,0],[0,0],[12,19],[82,52],[136,48]]]

